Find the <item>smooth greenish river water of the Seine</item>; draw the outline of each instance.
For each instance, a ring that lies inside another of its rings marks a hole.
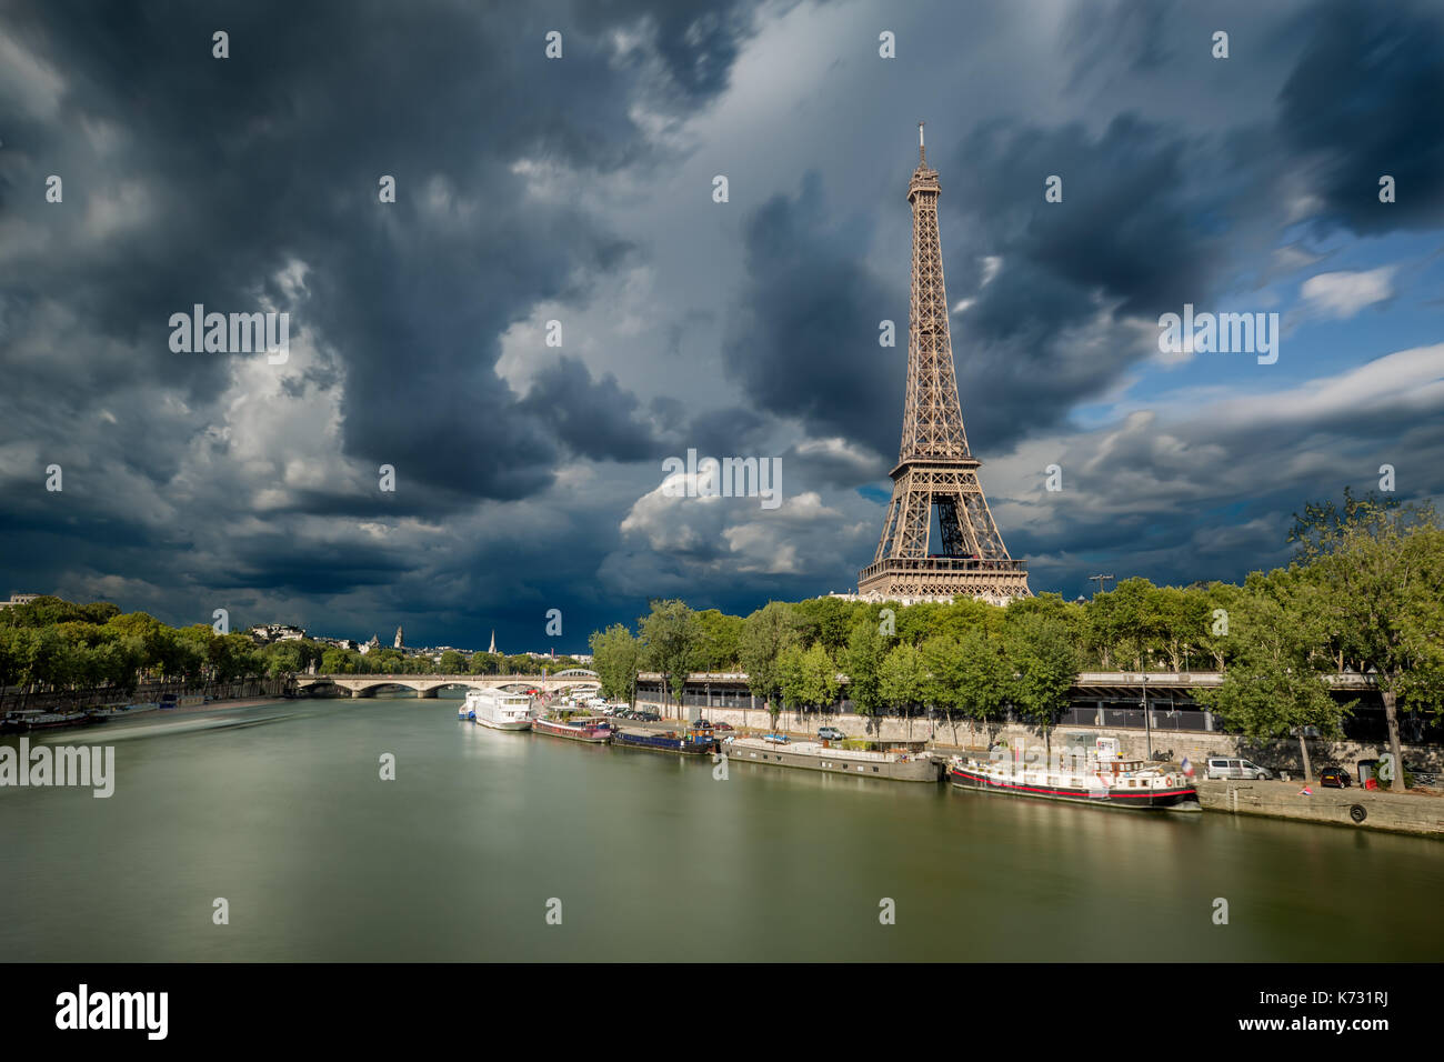
[[[45,740],[113,744],[116,792],[0,789],[3,961],[1444,954],[1444,845],[1409,837],[739,763],[719,780],[700,757],[485,730],[455,698]]]

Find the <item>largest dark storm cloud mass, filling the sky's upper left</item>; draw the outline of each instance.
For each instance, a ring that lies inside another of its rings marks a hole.
[[[542,302],[585,305],[631,253],[606,221],[537,202],[536,169],[516,163],[583,173],[637,165],[653,149],[634,108],[706,103],[726,84],[749,9],[9,6],[0,30],[61,85],[45,113],[43,78],[29,68],[13,78],[38,88],[0,78],[0,101],[10,90],[29,104],[0,107],[13,113],[0,211],[53,243],[0,266],[0,342],[25,380],[0,406],[13,441],[39,442],[42,465],[65,464],[71,491],[64,506],[7,504],[36,524],[29,571],[183,579],[118,553],[137,538],[195,549],[166,543],[160,506],[147,511],[144,491],[87,483],[129,472],[175,494],[188,449],[199,442],[215,461],[235,451],[237,439],[205,438],[231,383],[230,355],[168,347],[170,314],[193,303],[227,312],[267,299],[290,311],[293,347],[316,350],[299,373],[277,367],[282,393],[322,415],[339,399],[344,452],[397,468],[401,488],[390,496],[341,481],[292,485],[270,500],[271,520],[458,511],[544,491],[569,455],[654,455],[648,422],[631,416],[637,399],[615,379],[593,381],[565,361],[518,394],[494,368],[511,325]],[[212,56],[217,29],[230,33],[227,59]],[[565,39],[557,62],[543,53],[553,29]],[[622,64],[618,30],[640,42]],[[625,69],[648,64],[667,71],[664,91]],[[66,182],[64,208],[36,191],[51,172]],[[383,173],[396,176],[396,204],[377,201]],[[94,208],[114,188],[131,198],[114,202],[114,224],[97,233]],[[277,280],[293,263],[305,276]],[[295,455],[312,457],[325,458]],[[36,475],[12,467],[3,478],[32,491]],[[179,490],[189,510],[234,529],[205,555],[217,574],[199,579],[332,594],[416,566],[404,551],[316,546],[297,527],[289,548],[240,530],[263,487],[228,471]],[[71,538],[55,523],[62,511],[82,538],[130,530],[95,540],[85,562],[51,556]]]

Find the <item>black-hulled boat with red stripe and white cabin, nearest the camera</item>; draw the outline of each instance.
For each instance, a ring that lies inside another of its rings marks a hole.
[[[959,789],[983,793],[1129,811],[1201,811],[1199,792],[1181,770],[1126,759],[1118,751],[1118,738],[1108,737],[1097,738],[1093,754],[1058,766],[954,756],[947,777]]]

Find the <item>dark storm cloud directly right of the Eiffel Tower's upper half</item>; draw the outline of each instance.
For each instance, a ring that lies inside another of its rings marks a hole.
[[[975,256],[1002,260],[953,327],[969,428],[989,446],[1057,423],[1152,353],[1119,331],[1080,357],[1077,329],[1106,334],[1217,292],[1220,202],[1236,185],[1200,179],[1188,150],[1181,134],[1121,116],[1099,136],[989,123],[954,153],[944,214],[966,220]],[[1063,202],[1044,199],[1050,175]]]

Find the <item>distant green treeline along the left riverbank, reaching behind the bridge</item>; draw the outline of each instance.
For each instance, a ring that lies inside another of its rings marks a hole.
[[[129,696],[142,682],[180,682],[199,688],[263,676],[306,672],[345,675],[536,675],[530,656],[449,650],[425,653],[384,647],[370,653],[312,639],[260,646],[250,634],[217,634],[209,626],[170,627],[147,613],[121,613],[108,601],[75,604],[39,597],[0,610],[0,699],[19,686],[81,696]],[[549,670],[576,668],[572,657],[546,662]]]

